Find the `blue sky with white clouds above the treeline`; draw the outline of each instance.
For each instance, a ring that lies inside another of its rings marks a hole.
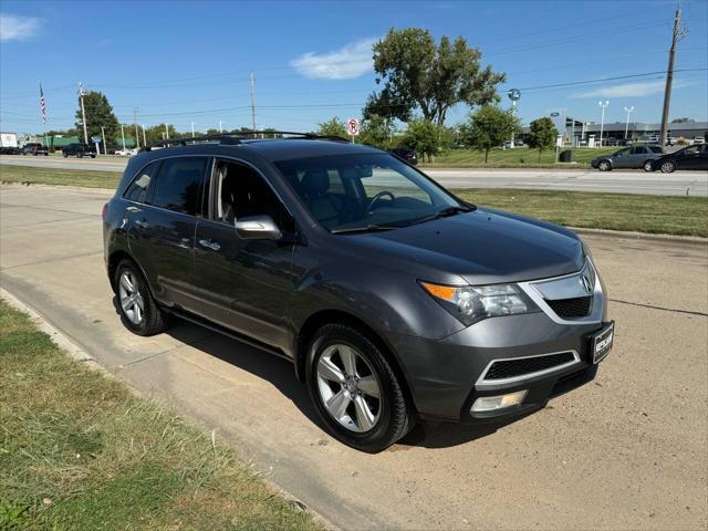
[[[708,67],[708,2],[684,0],[688,35],[676,69]],[[375,88],[371,43],[389,28],[467,38],[482,63],[521,90],[529,122],[552,110],[606,122],[657,122],[664,75],[538,88],[666,70],[674,1],[23,1],[0,4],[0,129],[73,125],[76,84],[104,92],[124,123],[188,131],[250,125],[249,72],[259,127],[309,131],[357,116]],[[504,97],[502,105],[508,106]],[[465,118],[460,105],[448,124]],[[671,117],[708,119],[708,72],[677,72]]]

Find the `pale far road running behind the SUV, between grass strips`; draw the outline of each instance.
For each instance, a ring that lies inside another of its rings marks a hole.
[[[69,169],[123,171],[125,158],[113,156],[96,159],[2,156],[1,164]],[[594,169],[444,169],[425,171],[449,188],[527,188],[576,191],[614,191],[618,194],[652,194],[662,196],[708,196],[708,171],[675,171]]]

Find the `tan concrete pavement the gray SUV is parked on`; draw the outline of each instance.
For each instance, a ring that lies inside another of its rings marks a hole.
[[[284,361],[179,323],[119,323],[104,191],[0,187],[0,283],[135,388],[235,442],[344,529],[708,527],[708,246],[587,237],[615,350],[597,378],[498,430],[416,428],[378,455],[322,429]]]

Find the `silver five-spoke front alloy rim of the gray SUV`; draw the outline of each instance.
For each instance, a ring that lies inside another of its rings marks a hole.
[[[317,389],[324,408],[346,429],[364,433],[376,426],[382,388],[356,348],[337,343],[324,350],[317,362]]]

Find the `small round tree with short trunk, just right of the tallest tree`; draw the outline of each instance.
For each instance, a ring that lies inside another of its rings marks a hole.
[[[469,115],[468,123],[462,125],[465,143],[485,152],[485,164],[489,150],[509,140],[519,131],[519,121],[511,111],[503,111],[496,105],[485,105]]]

